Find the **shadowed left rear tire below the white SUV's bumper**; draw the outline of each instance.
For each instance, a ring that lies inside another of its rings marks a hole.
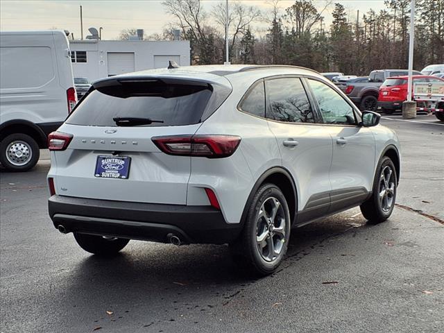
[[[74,238],[80,248],[102,257],[112,257],[113,255],[117,255],[117,253],[130,241],[129,239],[105,238],[93,234],[79,234],[78,232],[74,232]]]

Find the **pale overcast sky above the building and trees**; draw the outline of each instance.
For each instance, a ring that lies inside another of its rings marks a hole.
[[[232,0],[230,0],[232,1]],[[213,6],[221,0],[202,0],[206,12],[211,12]],[[257,6],[262,12],[271,9],[268,1],[239,0],[247,6]],[[361,13],[370,8],[379,11],[384,8],[384,0],[336,0],[345,6],[350,19],[356,19],[357,10]],[[282,12],[294,1],[280,1]],[[322,9],[325,0],[314,1],[316,8]],[[173,17],[164,11],[162,1],[140,0],[0,0],[0,30],[24,31],[46,30],[60,28],[74,33],[75,39],[80,39],[80,5],[83,8],[83,35],[88,35],[88,28],[94,26],[103,28],[102,39],[117,39],[119,33],[125,28],[142,28],[146,35],[162,33],[163,28],[174,22]],[[328,8],[323,16],[325,22],[330,24],[332,7]],[[360,14],[361,15],[361,14]],[[258,25],[260,29],[260,24]],[[263,26],[262,26],[263,28]]]

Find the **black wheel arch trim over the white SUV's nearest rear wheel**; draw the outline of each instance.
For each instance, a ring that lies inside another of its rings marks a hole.
[[[291,173],[283,167],[273,167],[268,169],[257,179],[253,189],[248,195],[244,211],[241,215],[241,223],[244,223],[246,215],[248,214],[248,207],[250,207],[251,201],[253,200],[255,193],[261,187],[261,185],[271,182],[278,186],[287,200],[289,205],[290,216],[292,219],[291,225],[296,221],[296,213],[298,212],[298,191],[296,184],[291,176]]]

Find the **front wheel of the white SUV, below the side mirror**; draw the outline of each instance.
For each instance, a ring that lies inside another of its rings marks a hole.
[[[390,217],[395,207],[397,185],[395,166],[389,157],[384,156],[377,168],[373,194],[361,205],[362,215],[368,220],[368,224],[381,223]]]

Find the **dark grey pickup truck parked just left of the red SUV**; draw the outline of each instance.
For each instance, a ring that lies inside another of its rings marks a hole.
[[[345,87],[344,92],[361,110],[376,110],[379,86],[391,76],[408,75],[407,69],[379,69],[371,71],[368,82],[353,83]],[[413,71],[413,74],[421,73]]]

